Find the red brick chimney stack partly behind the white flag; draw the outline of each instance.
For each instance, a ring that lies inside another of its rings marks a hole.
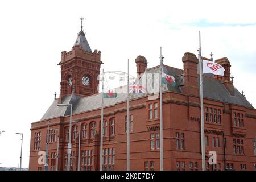
[[[233,81],[230,80],[230,62],[228,60],[228,57],[222,57],[221,59],[215,60],[215,63],[220,64],[224,69],[224,76],[215,75],[214,77],[217,80],[220,80],[222,84],[226,87],[226,89],[229,91],[230,95],[234,96],[234,85]]]

